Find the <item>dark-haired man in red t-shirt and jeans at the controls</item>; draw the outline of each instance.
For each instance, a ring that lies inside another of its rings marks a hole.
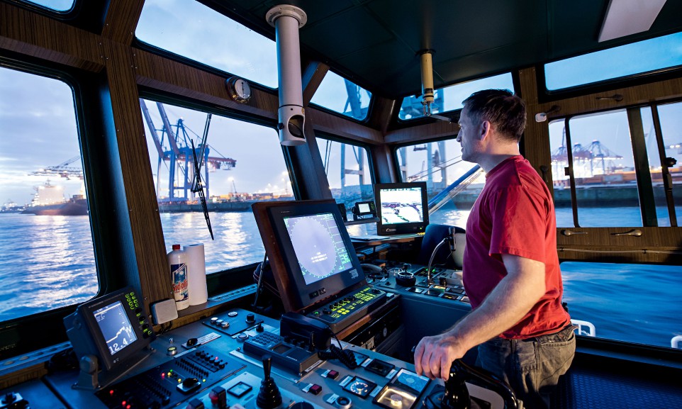
[[[527,408],[549,393],[573,361],[575,335],[561,306],[563,285],[549,189],[518,142],[525,104],[507,90],[464,100],[462,159],[486,172],[466,223],[463,281],[472,311],[415,349],[418,374],[447,379],[454,359],[479,346],[476,364],[507,381]]]

